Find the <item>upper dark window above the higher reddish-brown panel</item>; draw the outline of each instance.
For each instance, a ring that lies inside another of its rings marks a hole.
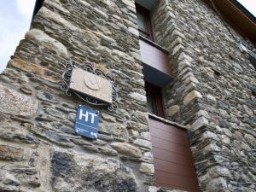
[[[137,26],[139,28],[140,36],[148,38],[153,41],[152,25],[150,20],[150,13],[147,9],[136,4],[137,11]]]

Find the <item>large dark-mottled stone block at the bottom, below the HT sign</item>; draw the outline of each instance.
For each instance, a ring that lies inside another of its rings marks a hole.
[[[51,184],[56,192],[136,192],[131,170],[118,160],[91,154],[51,152]]]

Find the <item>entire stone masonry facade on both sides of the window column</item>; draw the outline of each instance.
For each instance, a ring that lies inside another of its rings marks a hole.
[[[188,129],[201,191],[256,191],[255,68],[203,1],[159,0],[150,14],[173,70],[166,119]],[[118,108],[67,96],[69,61],[110,73]],[[0,79],[0,191],[176,191],[154,186],[134,0],[44,0]],[[74,132],[80,104],[100,111],[96,140]]]

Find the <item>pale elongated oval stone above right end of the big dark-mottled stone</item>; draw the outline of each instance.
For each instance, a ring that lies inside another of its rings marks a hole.
[[[120,154],[125,154],[133,158],[141,158],[142,152],[139,148],[132,146],[129,143],[112,143],[111,147],[116,149]]]

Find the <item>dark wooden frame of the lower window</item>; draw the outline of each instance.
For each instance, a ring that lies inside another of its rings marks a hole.
[[[153,108],[155,115],[165,118],[165,110],[163,105],[163,96],[161,88],[145,82],[145,89],[148,95],[153,96]]]

